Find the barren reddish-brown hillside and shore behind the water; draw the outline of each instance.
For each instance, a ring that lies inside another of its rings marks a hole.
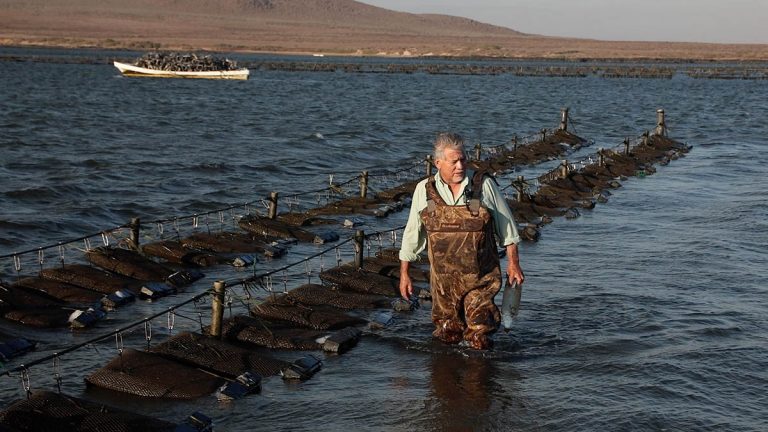
[[[546,29],[547,23],[541,28]],[[768,45],[547,37],[354,0],[0,0],[0,45],[387,56],[768,59]]]

